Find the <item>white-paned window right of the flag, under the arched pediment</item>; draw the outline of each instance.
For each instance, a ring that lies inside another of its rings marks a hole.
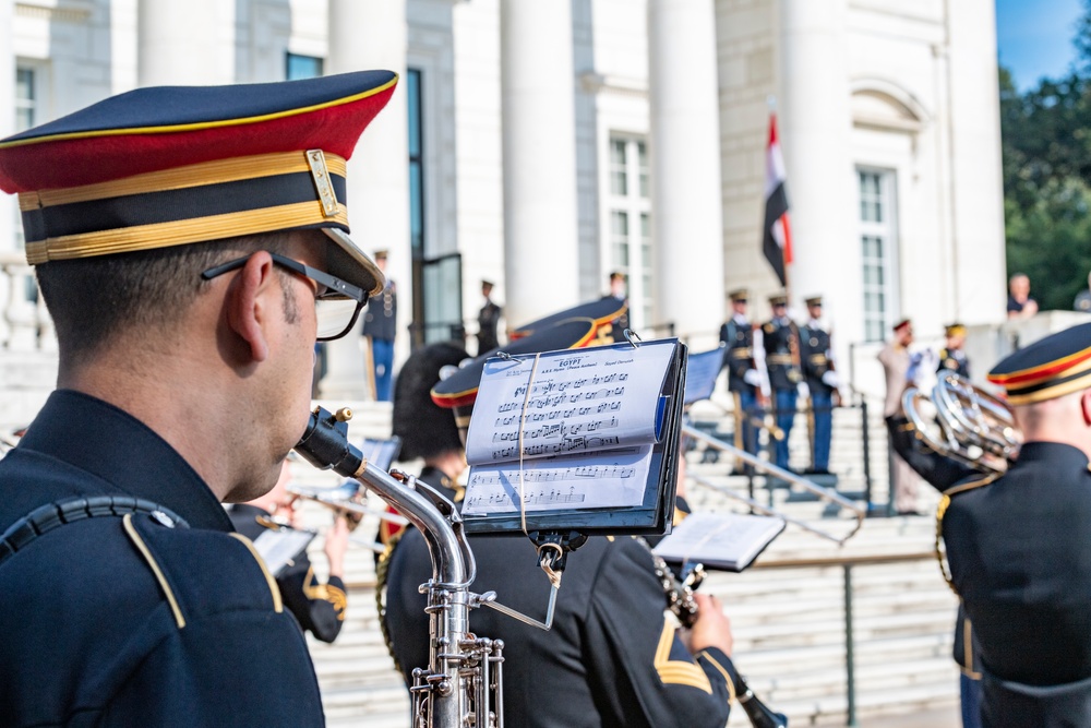
[[[882,342],[894,324],[896,228],[894,172],[858,169],[860,244],[863,265],[864,339]]]

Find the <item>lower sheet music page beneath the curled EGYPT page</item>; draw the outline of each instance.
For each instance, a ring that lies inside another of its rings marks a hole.
[[[644,502],[651,445],[591,454],[476,465],[463,501],[465,515],[637,506]],[[523,497],[520,499],[519,493]]]

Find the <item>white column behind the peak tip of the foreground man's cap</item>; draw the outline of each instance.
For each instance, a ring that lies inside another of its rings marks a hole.
[[[329,0],[328,8],[327,74],[387,69],[405,76],[405,0]],[[407,119],[406,96],[399,87],[363,132],[348,163],[352,239],[369,255],[375,250],[388,250],[386,273],[397,284],[395,371],[409,350],[406,326],[412,314]],[[326,344],[327,371],[320,384],[323,397],[370,395],[358,332]]]

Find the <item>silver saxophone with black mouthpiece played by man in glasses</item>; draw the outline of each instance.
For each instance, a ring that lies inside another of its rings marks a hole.
[[[469,610],[482,597],[471,594],[476,564],[466,544],[461,516],[448,500],[410,476],[367,462],[348,441],[348,409],[336,415],[317,407],[296,452],[320,469],[356,478],[407,517],[428,544],[432,578],[428,593],[428,668],[413,670],[415,728],[502,728],[503,642],[469,631]]]

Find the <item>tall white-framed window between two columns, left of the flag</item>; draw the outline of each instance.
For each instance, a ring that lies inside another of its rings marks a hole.
[[[651,321],[651,195],[648,145],[637,136],[610,139],[610,271],[628,281],[630,323]]]

